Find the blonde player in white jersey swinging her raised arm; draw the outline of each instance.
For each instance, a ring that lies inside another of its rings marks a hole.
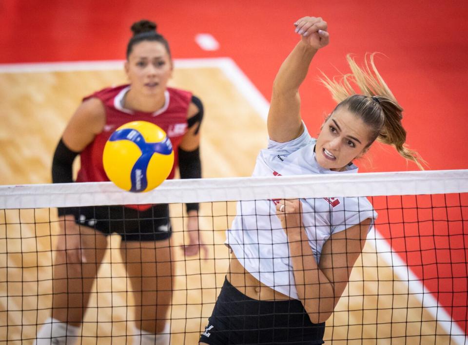
[[[301,39],[274,80],[270,140],[254,176],[357,173],[352,161],[376,139],[422,168],[418,154],[403,146],[402,108],[372,56],[366,68],[348,57],[352,74],[344,82],[322,80],[338,105],[318,137],[310,136],[298,89],[329,33],[321,18],[294,25]],[[226,236],[229,271],[200,344],[322,344],[325,321],[376,217],[370,202],[358,197],[239,202]]]

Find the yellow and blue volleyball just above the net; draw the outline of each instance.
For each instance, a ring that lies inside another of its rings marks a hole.
[[[148,192],[172,171],[174,150],[160,127],[147,121],[124,124],[109,137],[102,154],[109,180],[130,192]]]

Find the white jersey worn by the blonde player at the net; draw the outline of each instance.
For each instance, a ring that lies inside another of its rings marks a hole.
[[[298,138],[285,143],[269,140],[268,149],[257,156],[253,176],[304,175],[312,173],[357,173],[353,164],[344,172],[318,165],[315,139],[307,129]],[[331,234],[371,219],[377,213],[365,197],[329,197],[301,199],[302,220],[317,263],[324,243]],[[226,244],[241,265],[263,284],[298,299],[290,259],[288,238],[276,216],[273,200],[237,203],[232,227],[226,231]]]

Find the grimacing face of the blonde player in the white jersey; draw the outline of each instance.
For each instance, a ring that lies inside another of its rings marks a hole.
[[[346,108],[334,111],[323,124],[315,144],[317,163],[340,171],[367,152],[370,128]]]

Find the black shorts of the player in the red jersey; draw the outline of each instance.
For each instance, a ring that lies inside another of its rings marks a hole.
[[[169,205],[153,205],[146,211],[125,206],[89,206],[75,210],[75,222],[104,235],[117,232],[122,241],[160,241],[171,236]]]

